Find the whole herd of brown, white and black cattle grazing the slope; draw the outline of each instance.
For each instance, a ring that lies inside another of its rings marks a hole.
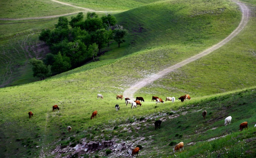
[[[98,94],[98,95],[97,95],[97,99],[98,99],[98,98],[103,99],[103,95]],[[116,96],[116,99],[117,99],[117,100],[119,100],[119,99],[123,100],[123,95],[117,95],[117,96]],[[189,99],[189,100],[190,100],[191,97],[190,97],[188,94],[186,94],[186,95],[184,95],[184,96],[179,97],[178,99],[181,100],[181,102],[184,102],[184,100],[186,100],[186,99]],[[151,102],[154,101],[154,100],[155,100],[155,104],[164,103],[163,99],[161,99],[161,98],[159,98],[159,97],[157,97],[157,96],[152,96]],[[174,102],[174,101],[175,101],[175,97],[166,97],[165,102],[168,101],[168,100]],[[135,100],[135,101],[129,99],[128,97],[125,98],[126,106],[127,106],[128,104],[131,104],[131,108],[132,108],[132,109],[133,109],[133,107],[137,108],[137,105],[141,106],[141,105],[142,105],[141,102],[145,102],[145,100],[144,100],[143,97],[136,97],[136,100]],[[57,104],[55,104],[55,105],[52,106],[52,112],[54,112],[54,111],[57,110],[57,109],[59,110],[59,107],[58,107]],[[118,104],[115,105],[115,109],[116,109],[116,111],[120,110],[120,107],[119,107]],[[92,120],[94,117],[96,117],[97,114],[98,114],[98,112],[97,112],[97,111],[94,111],[94,112],[92,113],[91,120]],[[30,111],[30,112],[28,112],[28,115],[29,115],[29,118],[31,118],[31,117],[33,116],[33,113]],[[99,114],[98,114],[98,115],[99,115]],[[204,110],[204,111],[202,112],[203,119],[206,119],[206,115],[207,115],[207,111]],[[231,117],[231,116],[225,118],[224,125],[227,126],[228,124],[230,124],[230,123],[231,123],[231,120],[232,120],[232,117]],[[157,127],[159,127],[159,129],[160,129],[161,123],[162,123],[161,120],[155,121],[155,123],[154,123],[154,124],[155,124],[155,130],[157,129]],[[255,124],[254,127],[256,127],[256,124]],[[247,123],[247,122],[243,122],[243,123],[241,123],[240,126],[239,126],[239,131],[242,131],[243,129],[246,129],[246,128],[248,129],[248,123]],[[70,127],[70,126],[67,127],[67,131],[68,131],[68,133],[71,133],[71,127]],[[140,149],[139,147],[136,147],[135,149],[133,149],[133,151],[132,151],[132,157],[133,157],[133,156],[135,157],[136,154],[137,154],[137,156],[138,156],[139,149]],[[178,144],[175,146],[175,148],[173,148],[173,152],[176,152],[176,151],[179,151],[179,150],[181,151],[181,149],[182,149],[182,150],[184,149],[184,143],[183,143],[183,142],[178,143]]]

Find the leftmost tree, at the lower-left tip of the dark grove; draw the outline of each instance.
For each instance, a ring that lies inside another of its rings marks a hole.
[[[44,80],[44,77],[48,77],[52,74],[51,66],[46,66],[43,61],[32,58],[30,64],[33,65],[33,77],[40,77],[40,80]]]

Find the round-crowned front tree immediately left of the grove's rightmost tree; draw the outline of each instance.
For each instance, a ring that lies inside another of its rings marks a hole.
[[[99,54],[101,53],[101,48],[103,48],[109,42],[109,34],[105,29],[97,30],[92,33],[92,40],[94,43],[98,44]]]

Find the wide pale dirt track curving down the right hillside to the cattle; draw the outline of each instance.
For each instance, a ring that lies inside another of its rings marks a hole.
[[[232,38],[234,38],[240,31],[243,30],[243,28],[246,26],[247,22],[249,21],[249,16],[250,16],[250,10],[247,8],[247,6],[239,1],[235,1],[233,0],[235,3],[237,3],[241,9],[242,12],[242,19],[240,24],[238,25],[238,27],[228,36],[226,37],[224,40],[222,40],[221,42],[219,42],[218,44],[208,48],[207,50],[204,50],[203,52],[192,56],[191,58],[188,58],[180,63],[177,63],[173,66],[170,66],[168,68],[163,69],[163,71],[158,72],[157,74],[151,75],[148,78],[144,78],[141,81],[138,81],[137,83],[135,83],[133,86],[131,86],[129,89],[126,89],[123,93],[124,97],[129,97],[132,100],[134,100],[133,95],[135,94],[135,92],[137,92],[139,89],[141,89],[142,87],[145,87],[147,84],[152,83],[153,81],[163,77],[164,75],[169,74],[170,72],[181,68],[182,66],[191,63],[199,58],[202,58],[205,55],[208,55],[209,53],[219,49],[220,47],[222,47],[224,44],[228,43]]]

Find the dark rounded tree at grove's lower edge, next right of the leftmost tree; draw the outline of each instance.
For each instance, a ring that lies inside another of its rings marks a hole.
[[[70,58],[62,56],[61,52],[54,56],[54,62],[52,63],[52,70],[57,73],[68,71],[71,68]]]

